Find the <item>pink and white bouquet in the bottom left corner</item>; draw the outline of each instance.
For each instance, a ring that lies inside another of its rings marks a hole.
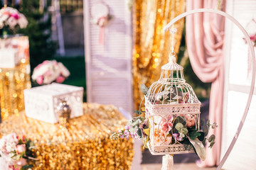
[[[16,133],[3,136],[0,140],[0,164],[9,169],[31,169],[36,161],[36,149],[25,135],[19,137]]]

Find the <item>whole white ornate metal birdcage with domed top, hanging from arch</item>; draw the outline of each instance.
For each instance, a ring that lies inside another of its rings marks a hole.
[[[151,84],[145,96],[146,118],[150,129],[147,146],[151,154],[194,152],[193,147],[186,148],[183,143],[174,139],[179,134],[173,125],[176,121],[185,120],[183,123],[193,124],[193,127],[186,127],[199,130],[200,106],[201,102],[192,87],[186,83],[183,67],[176,63],[175,52],[172,50],[169,63],[161,67],[160,79]]]

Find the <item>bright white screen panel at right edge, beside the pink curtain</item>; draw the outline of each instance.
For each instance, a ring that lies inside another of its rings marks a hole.
[[[251,30],[249,24],[252,22],[252,18],[256,20],[256,1],[228,0],[226,2],[226,12],[237,19],[248,32],[252,33],[254,31],[254,33],[256,33],[256,29]],[[248,63],[250,63],[251,60],[248,57],[248,45],[242,40],[243,37],[244,35],[240,29],[226,20],[222,157],[228,149],[238,128],[250,90],[252,69]],[[254,92],[243,129],[223,169],[255,169],[255,129],[256,95]]]

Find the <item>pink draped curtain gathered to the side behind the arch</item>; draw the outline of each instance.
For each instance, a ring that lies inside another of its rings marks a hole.
[[[216,0],[186,1],[186,11],[196,8],[215,8]],[[186,16],[186,43],[188,55],[199,79],[211,82],[209,120],[218,124],[210,130],[215,135],[215,145],[206,147],[206,161],[198,166],[216,166],[220,163],[220,145],[223,114],[223,39],[224,17],[215,13],[195,13]]]

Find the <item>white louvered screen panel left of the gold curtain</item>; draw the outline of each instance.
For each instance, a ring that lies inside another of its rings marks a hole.
[[[95,0],[84,1],[87,101],[113,104],[132,112],[132,18],[124,0],[103,1],[112,19],[104,28],[91,22]],[[102,2],[102,1],[101,1]]]

